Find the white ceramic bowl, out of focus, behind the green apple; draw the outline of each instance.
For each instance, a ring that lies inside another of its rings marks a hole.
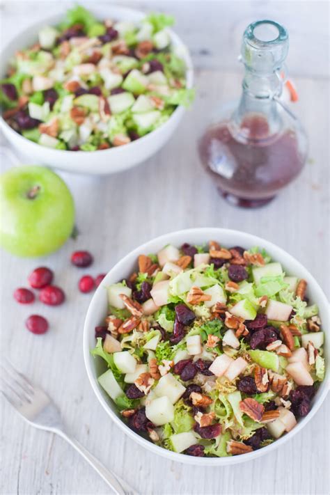
[[[137,22],[145,17],[145,14],[139,12],[139,10],[111,5],[91,8],[91,11],[98,19],[125,19]],[[33,24],[33,26],[19,33],[18,36],[15,36],[3,48],[3,56],[0,59],[1,79],[6,74],[10,57],[17,50],[28,47],[33,42],[36,42],[38,31],[42,26],[58,24],[63,19],[63,15],[56,15],[55,17],[43,19],[38,24]],[[173,31],[168,31],[171,35],[173,45],[178,48],[180,56],[182,56],[187,65],[187,88],[191,88],[193,84],[193,71],[189,52],[180,38]],[[24,138],[18,132],[15,132],[1,116],[0,126],[10,143],[15,147],[17,154],[29,163],[54,166],[61,170],[74,173],[108,175],[138,165],[154,155],[170,139],[178,127],[183,114],[184,108],[178,107],[164,125],[132,143],[125,146],[118,146],[117,148],[109,148],[109,150],[88,152],[54,150],[40,146]]]

